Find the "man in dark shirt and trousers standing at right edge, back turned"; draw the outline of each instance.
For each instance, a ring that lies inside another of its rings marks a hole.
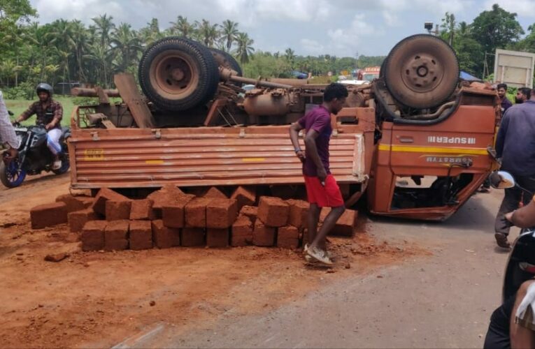
[[[523,87],[522,95],[530,96],[529,89]],[[519,90],[519,91],[520,91]],[[508,108],[496,140],[496,153],[502,158],[501,169],[510,172],[522,188],[535,192],[535,96],[524,103]],[[520,200],[528,205],[532,198],[522,195],[518,187],[505,190],[504,200],[501,202],[496,221],[494,223],[494,237],[498,246],[509,248],[507,240],[511,222],[506,214],[518,209]]]

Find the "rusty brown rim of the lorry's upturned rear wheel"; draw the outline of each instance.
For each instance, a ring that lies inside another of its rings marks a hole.
[[[199,68],[187,54],[170,50],[159,54],[150,64],[150,82],[160,96],[182,99],[199,84]]]

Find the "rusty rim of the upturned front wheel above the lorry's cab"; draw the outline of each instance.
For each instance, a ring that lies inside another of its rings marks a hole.
[[[444,76],[444,67],[431,54],[415,54],[404,64],[401,79],[408,89],[416,92],[433,91]]]

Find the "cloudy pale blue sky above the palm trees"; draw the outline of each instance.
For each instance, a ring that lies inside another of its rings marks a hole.
[[[457,21],[472,22],[493,3],[518,13],[527,31],[535,23],[535,0],[30,0],[38,22],[57,18],[86,24],[107,13],[115,24],[138,29],[159,20],[169,27],[178,15],[190,22],[232,20],[255,40],[256,50],[337,57],[386,55],[402,38],[425,33],[424,22],[440,24],[446,11]]]

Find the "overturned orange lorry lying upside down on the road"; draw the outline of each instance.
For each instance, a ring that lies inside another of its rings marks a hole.
[[[99,104],[73,112],[73,188],[304,192],[288,126],[322,103],[326,85],[245,79],[231,56],[185,38],[149,47],[138,75],[145,97],[131,75],[117,75],[123,103],[96,89]],[[487,148],[500,116],[497,94],[459,81],[443,40],[401,40],[377,80],[348,90],[347,107],[331,116],[330,141],[346,206],[362,199],[373,214],[443,220],[494,168]]]

